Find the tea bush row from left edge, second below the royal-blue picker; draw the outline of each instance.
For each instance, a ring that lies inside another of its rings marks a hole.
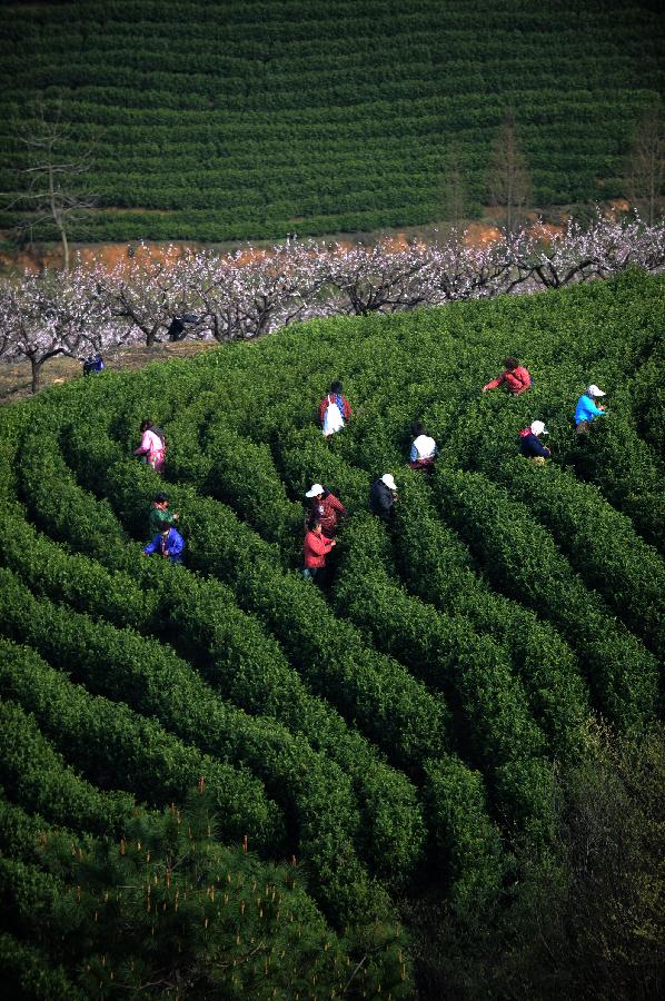
[[[90,692],[121,697],[185,742],[260,775],[287,823],[297,824],[299,852],[338,920],[353,920],[360,899],[368,912],[384,908],[354,851],[359,817],[339,769],[277,724],[222,703],[168,647],[37,601],[8,571],[0,572],[0,584],[7,636],[59,670],[76,665],[75,680]]]

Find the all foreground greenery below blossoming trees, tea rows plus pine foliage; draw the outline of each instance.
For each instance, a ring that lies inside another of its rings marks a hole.
[[[559,993],[648,997],[657,783],[628,776],[635,754],[662,767],[664,300],[663,276],[627,269],[316,319],[0,412],[0,964],[17,990],[508,998],[550,969]],[[482,394],[508,354],[532,388]],[[335,378],[354,415],[326,440]],[[580,442],[590,381],[608,414]],[[145,417],[163,476],[131,454]],[[542,467],[517,454],[536,417]],[[408,467],[416,419],[440,446],[430,476]],[[367,500],[387,470],[384,524]],[[322,591],[299,573],[314,482],[349,511]],[[141,553],[160,489],[182,566]],[[566,886],[584,824],[618,823],[611,787],[638,846],[605,853],[573,977],[563,932],[538,963],[515,942],[547,893],[562,926],[583,920]],[[639,893],[615,879],[626,859]],[[602,954],[616,908],[634,918],[621,975]]]

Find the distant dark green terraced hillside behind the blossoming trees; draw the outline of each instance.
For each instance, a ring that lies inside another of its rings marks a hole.
[[[4,2],[0,34],[0,189],[17,190],[36,99],[62,101],[62,155],[93,151],[91,240],[431,222],[456,163],[469,217],[509,109],[534,205],[625,197],[664,89],[647,2]]]

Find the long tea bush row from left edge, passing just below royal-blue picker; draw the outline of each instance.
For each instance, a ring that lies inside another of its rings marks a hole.
[[[19,515],[11,511],[6,521],[0,517],[8,528],[0,559],[33,592],[173,643],[217,693],[307,739],[353,780],[363,807],[358,848],[364,856],[377,871],[409,869],[423,841],[415,790],[309,695],[275,642],[237,608],[228,588],[185,571],[175,579],[170,567],[142,561],[136,549],[123,571],[106,569],[81,554],[68,555]]]

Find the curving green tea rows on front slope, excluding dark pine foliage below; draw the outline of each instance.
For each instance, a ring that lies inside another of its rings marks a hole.
[[[656,712],[662,562],[637,502],[642,486],[662,492],[662,289],[626,272],[317,320],[0,410],[8,796],[46,824],[117,835],[137,810],[161,823],[136,800],[172,799],[175,816],[204,776],[226,814],[214,844],[247,833],[265,855],[296,855],[309,895],[350,929],[345,983],[371,962],[367,984],[408,994],[396,901],[410,912],[426,896],[453,921],[495,913],[520,880],[520,845],[544,858],[555,836],[557,761],[579,763],[598,711],[623,731]],[[529,393],[482,395],[509,351],[534,371]],[[626,366],[634,379],[614,393]],[[334,378],[354,416],[326,440],[317,406]],[[570,412],[590,379],[612,406],[579,445]],[[515,455],[534,416],[555,447],[540,468]],[[146,417],[166,429],[163,476],[131,455]],[[417,418],[441,447],[430,476],[407,466]],[[639,467],[612,465],[622,428]],[[386,470],[388,525],[367,511]],[[350,513],[324,589],[298,573],[317,480]],[[186,566],[141,555],[159,489]],[[7,858],[9,896],[26,886],[46,913],[41,856]],[[43,960],[54,989],[76,990],[50,940],[12,934],[26,978],[40,982]]]

